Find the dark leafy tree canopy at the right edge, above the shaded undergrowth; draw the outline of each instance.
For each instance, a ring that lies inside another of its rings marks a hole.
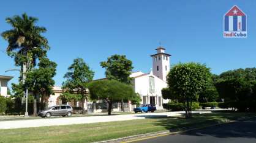
[[[215,86],[225,102],[250,101],[256,81],[256,68],[235,69],[222,72]]]

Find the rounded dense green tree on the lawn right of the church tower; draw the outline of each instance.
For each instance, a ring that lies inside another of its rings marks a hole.
[[[198,100],[210,78],[210,69],[200,63],[179,63],[167,75],[170,99],[186,102],[186,117],[192,116],[192,101]]]

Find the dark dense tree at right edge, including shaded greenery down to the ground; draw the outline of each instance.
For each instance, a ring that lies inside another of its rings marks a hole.
[[[240,111],[254,111],[256,68],[234,69],[222,72],[214,85],[224,99],[223,107]]]

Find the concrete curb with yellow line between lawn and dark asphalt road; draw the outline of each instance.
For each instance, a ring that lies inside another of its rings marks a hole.
[[[107,140],[107,141],[100,141],[100,142],[95,142],[95,143],[116,143],[116,142],[128,143],[128,142],[143,141],[145,139],[157,138],[157,137],[160,137],[160,136],[167,136],[167,135],[170,135],[170,134],[184,133],[186,131],[198,130],[198,129],[202,129],[202,128],[213,127],[213,126],[216,126],[216,125],[230,124],[230,123],[233,123],[233,122],[238,122],[238,121],[243,121],[243,120],[248,120],[248,119],[253,119],[253,118],[255,118],[255,117],[245,117],[245,118],[242,118],[242,119],[229,120],[229,121],[226,121],[226,122],[219,122],[219,123],[216,123],[216,124],[205,125],[203,127],[189,128],[187,130],[182,130],[181,129],[181,131],[165,130],[165,131],[157,131],[157,132],[153,132],[153,133],[137,134],[137,135],[134,135],[134,136],[127,136],[127,137],[118,138],[118,139],[110,139],[110,140]]]

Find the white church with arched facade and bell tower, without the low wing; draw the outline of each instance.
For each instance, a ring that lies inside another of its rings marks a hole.
[[[151,104],[162,109],[162,103],[168,100],[162,98],[162,88],[167,87],[166,76],[170,71],[170,54],[165,53],[164,47],[156,49],[157,54],[151,55],[152,69],[148,74],[141,71],[133,72],[130,77],[133,78],[135,92],[141,96],[141,104]]]

